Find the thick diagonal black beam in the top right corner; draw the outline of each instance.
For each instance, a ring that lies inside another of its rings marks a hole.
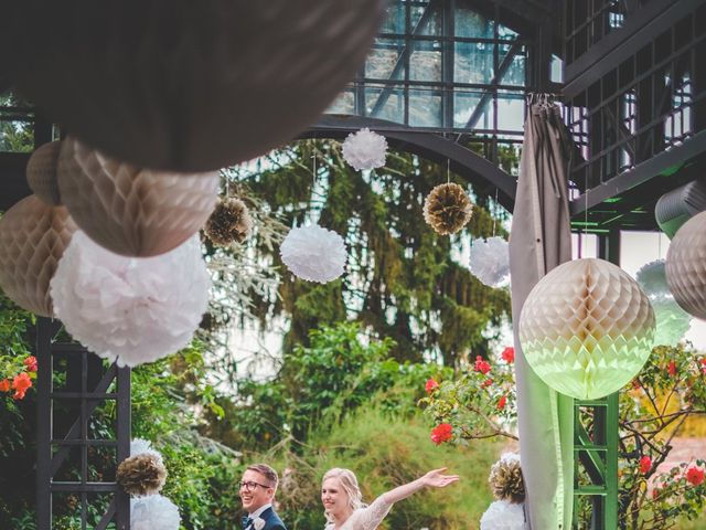
[[[623,61],[651,43],[665,29],[695,11],[706,0],[652,0],[625,25],[593,44],[564,71],[564,98],[569,100],[587,89]]]

